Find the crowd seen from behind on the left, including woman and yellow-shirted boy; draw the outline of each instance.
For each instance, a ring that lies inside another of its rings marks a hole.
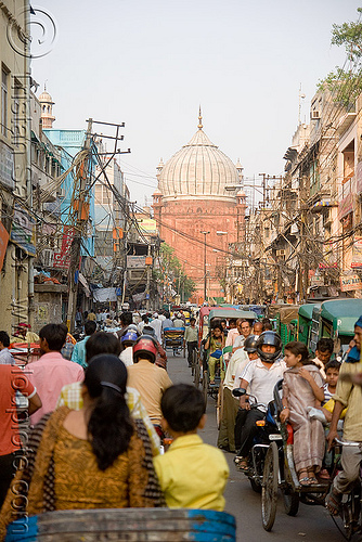
[[[0,332],[9,354],[0,356],[1,539],[14,519],[55,509],[224,507],[227,461],[197,436],[205,424],[203,395],[172,384],[157,340],[163,322],[185,325],[182,314],[134,322],[125,312],[107,332],[98,331],[90,314],[70,359],[61,353],[64,324],[39,331],[41,356],[24,367]],[[197,343],[193,327],[189,338]],[[18,409],[20,395],[28,416]],[[165,431],[173,443],[161,454]]]

